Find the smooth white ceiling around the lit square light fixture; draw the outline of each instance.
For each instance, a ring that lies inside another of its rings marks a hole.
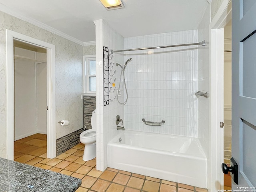
[[[197,28],[208,5],[207,0],[122,2],[125,8],[108,11],[100,0],[0,0],[0,10],[12,10],[14,16],[39,21],[80,42],[90,42],[95,41],[94,20],[106,20],[123,37],[190,30]]]

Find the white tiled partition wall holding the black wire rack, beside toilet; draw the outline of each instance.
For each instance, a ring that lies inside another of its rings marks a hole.
[[[110,93],[110,98],[114,101],[109,105],[103,105],[103,46],[110,50],[120,50],[124,47],[124,38],[113,30],[106,21],[97,20],[96,24],[96,76],[97,76],[97,92],[96,92],[96,108],[97,108],[97,169],[104,170],[107,167],[107,144],[118,134],[116,130],[116,116],[124,119],[124,106],[118,104],[114,99],[117,94],[117,86],[119,84],[119,77],[121,68],[116,66],[116,63],[123,65],[124,56],[120,54],[110,55],[110,67],[113,66],[110,76],[112,81],[115,79],[116,90]],[[99,39],[99,41],[98,41]],[[98,58],[99,56],[100,58]],[[114,71],[116,71],[114,73]],[[112,87],[114,90],[115,87]],[[122,99],[122,98],[121,98]],[[122,130],[119,130],[122,131]]]

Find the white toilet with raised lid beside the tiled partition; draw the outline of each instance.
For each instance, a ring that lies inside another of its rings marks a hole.
[[[92,129],[80,134],[80,142],[85,144],[83,160],[88,161],[96,157],[96,109],[92,112]]]

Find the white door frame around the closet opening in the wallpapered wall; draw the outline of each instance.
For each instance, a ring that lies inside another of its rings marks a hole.
[[[6,29],[6,94],[7,158],[14,160],[14,51],[13,41],[18,40],[46,49],[47,55],[47,158],[56,157],[56,114],[55,114],[55,45]]]

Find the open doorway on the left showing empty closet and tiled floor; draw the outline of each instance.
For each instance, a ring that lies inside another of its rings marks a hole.
[[[28,157],[47,156],[46,68],[45,48],[14,40],[14,160],[16,161],[22,159],[24,162]]]

